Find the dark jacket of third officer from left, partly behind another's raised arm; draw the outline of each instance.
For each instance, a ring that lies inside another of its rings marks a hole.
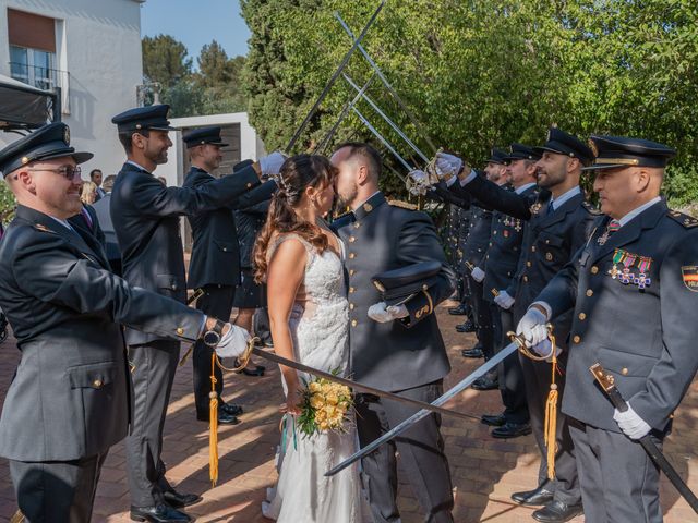
[[[233,168],[233,171],[237,172],[237,169]],[[201,188],[208,183],[215,183],[216,180],[203,169],[192,166],[182,186]],[[233,208],[248,207],[269,199],[276,188],[276,182],[269,181],[244,193],[226,207],[186,217],[193,236],[188,280],[190,289],[208,284],[240,284],[240,248]]]

